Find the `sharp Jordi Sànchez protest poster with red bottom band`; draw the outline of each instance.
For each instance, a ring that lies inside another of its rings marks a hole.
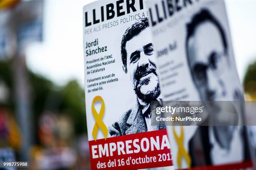
[[[83,8],[87,130],[92,169],[172,165],[145,0],[100,0]]]

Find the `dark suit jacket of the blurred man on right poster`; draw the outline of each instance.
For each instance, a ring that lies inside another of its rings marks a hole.
[[[248,141],[243,128],[241,137],[243,138],[244,160],[250,160]],[[210,150],[212,148],[209,138],[209,126],[199,126],[194,136],[189,140],[189,155],[192,167],[212,165]]]

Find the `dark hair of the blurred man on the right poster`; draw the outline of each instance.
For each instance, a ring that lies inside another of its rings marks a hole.
[[[207,9],[202,9],[199,13],[194,15],[191,23],[187,24],[187,38],[186,38],[187,57],[189,56],[189,52],[188,52],[189,38],[195,34],[195,30],[197,29],[198,26],[200,26],[202,23],[205,23],[207,21],[211,22],[218,28],[220,35],[221,35],[225,53],[228,52],[228,42],[227,42],[225,32],[224,32],[222,26],[220,25],[218,20],[216,20],[214,18],[214,16]]]

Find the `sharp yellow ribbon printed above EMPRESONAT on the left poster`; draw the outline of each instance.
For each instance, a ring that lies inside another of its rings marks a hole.
[[[100,108],[100,113],[98,114],[97,111],[95,110],[94,104],[95,102],[101,102],[101,108]],[[104,124],[104,122],[102,121],[102,118],[104,116],[104,112],[105,112],[105,103],[104,100],[102,99],[101,96],[96,96],[94,97],[94,99],[92,100],[92,115],[95,118],[95,125],[93,127],[92,130],[92,136],[94,138],[94,140],[97,140],[97,134],[99,131],[99,128],[101,129],[105,140],[107,139],[108,136],[108,128],[106,127],[106,125]]]

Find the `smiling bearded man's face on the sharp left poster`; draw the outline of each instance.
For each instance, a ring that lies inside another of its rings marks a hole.
[[[155,100],[160,95],[150,34],[150,29],[146,28],[126,43],[127,72],[136,95],[144,102]]]

